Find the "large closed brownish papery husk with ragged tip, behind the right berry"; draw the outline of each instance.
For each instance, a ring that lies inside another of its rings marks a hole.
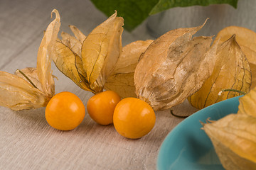
[[[192,39],[202,27],[171,30],[142,55],[134,72],[136,94],[154,111],[183,102],[210,77],[217,46],[210,49],[211,37]]]

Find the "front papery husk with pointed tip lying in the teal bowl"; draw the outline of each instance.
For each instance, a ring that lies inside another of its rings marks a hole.
[[[255,103],[254,103],[255,104]],[[225,169],[256,169],[256,117],[230,114],[203,130]]]

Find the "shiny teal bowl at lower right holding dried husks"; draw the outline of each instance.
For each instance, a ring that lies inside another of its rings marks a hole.
[[[238,98],[230,98],[189,116],[179,123],[161,144],[156,166],[158,170],[223,170],[217,154],[200,123],[218,120],[238,112]]]

